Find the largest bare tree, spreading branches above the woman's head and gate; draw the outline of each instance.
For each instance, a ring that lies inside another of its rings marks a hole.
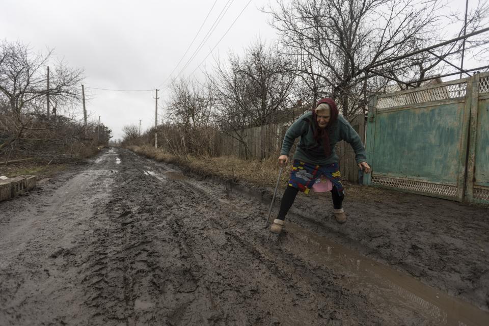
[[[280,0],[264,11],[274,18],[287,55],[298,58],[297,73],[308,75],[309,101],[328,93],[349,117],[365,106],[367,92],[385,88],[388,80],[414,87],[412,80],[438,67],[443,60],[428,60],[427,53],[381,63],[439,40],[441,8],[438,0]],[[441,57],[459,50],[452,45]],[[372,76],[376,80],[366,84]]]

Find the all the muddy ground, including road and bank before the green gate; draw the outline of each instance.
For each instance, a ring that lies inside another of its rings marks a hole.
[[[0,203],[0,325],[489,324],[487,207],[272,192],[104,150]]]

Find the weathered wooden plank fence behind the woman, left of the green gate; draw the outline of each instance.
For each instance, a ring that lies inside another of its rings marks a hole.
[[[360,134],[362,140],[365,134],[365,119],[363,115],[357,115],[351,119],[351,126]],[[236,155],[242,158],[266,158],[270,155],[279,155],[285,132],[290,123],[269,124],[260,127],[243,129],[238,134],[222,135],[223,155]],[[294,148],[292,148],[291,153]],[[340,171],[344,179],[358,182],[358,166],[355,161],[355,153],[351,146],[340,142],[336,146],[336,153],[340,158]]]

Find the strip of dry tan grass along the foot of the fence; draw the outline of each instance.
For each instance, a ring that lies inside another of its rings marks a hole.
[[[276,157],[263,160],[244,160],[236,156],[195,157],[187,155],[179,157],[165,153],[161,149],[156,150],[150,146],[131,146],[129,149],[148,158],[175,164],[184,170],[197,174],[227,180],[248,181],[257,186],[274,188],[279,173],[278,154]],[[288,164],[282,172],[282,178],[279,183],[281,189],[285,189],[287,186],[290,170],[291,165]],[[398,199],[401,196],[401,193],[388,191],[387,189],[362,186],[348,181],[344,181],[344,184],[347,189],[347,198],[355,198],[356,200],[375,200],[386,196]],[[313,196],[329,196],[329,194],[316,193]]]

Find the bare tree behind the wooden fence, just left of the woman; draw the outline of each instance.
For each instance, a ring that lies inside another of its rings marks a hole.
[[[279,113],[293,106],[294,67],[294,60],[260,41],[251,44],[242,58],[231,54],[227,64],[216,63],[211,77],[216,93],[214,117],[225,133],[243,144],[246,157],[241,130],[274,123]]]

